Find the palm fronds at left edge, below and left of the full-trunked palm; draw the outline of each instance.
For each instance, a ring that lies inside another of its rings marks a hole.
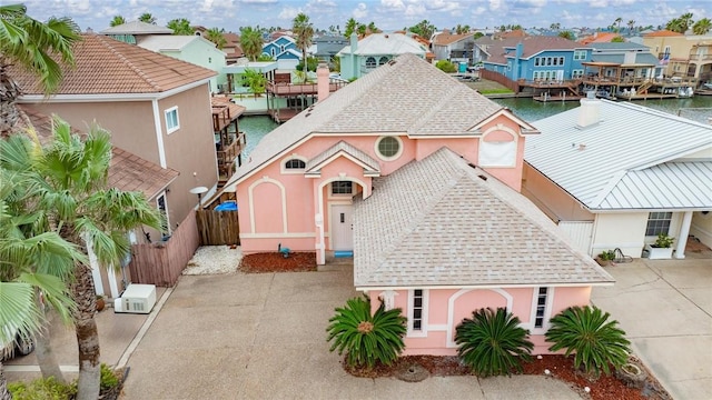
[[[10,140],[23,147],[21,139]],[[4,140],[0,142],[3,146],[0,156],[7,161],[11,159],[8,152],[12,149],[6,143]],[[56,232],[33,234],[34,222],[41,213],[27,209],[28,204],[37,203],[33,199],[38,193],[38,186],[30,174],[27,170],[16,172],[0,167],[0,181],[3,182],[0,187],[0,321],[3,326],[20,327],[21,337],[46,329],[40,292],[65,322],[70,321],[73,302],[63,281],[68,280],[75,261],[83,257]],[[0,342],[14,340],[6,334],[14,336],[14,332],[0,330]],[[8,398],[0,362],[0,399]]]

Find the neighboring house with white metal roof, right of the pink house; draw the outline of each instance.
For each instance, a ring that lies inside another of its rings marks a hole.
[[[659,233],[676,238],[676,258],[689,234],[712,246],[712,126],[596,99],[535,126],[523,192],[582,251],[637,258]]]

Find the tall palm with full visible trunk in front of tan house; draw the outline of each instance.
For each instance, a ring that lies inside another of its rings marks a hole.
[[[111,160],[110,136],[91,126],[85,140],[71,133],[65,121],[56,118],[52,141],[46,147],[27,148],[22,154],[31,160],[38,179],[38,210],[44,210],[37,224],[57,232],[85,254],[91,248],[101,266],[119,266],[130,251],[127,232],[141,224],[160,228],[160,217],[138,192],[107,188]],[[99,396],[99,337],[93,319],[96,291],[88,257],[73,263],[72,313],[79,349],[78,399]]]

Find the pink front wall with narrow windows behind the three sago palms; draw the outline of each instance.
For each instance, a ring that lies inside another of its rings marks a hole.
[[[533,316],[535,312],[535,288],[504,288],[504,289],[429,289],[427,290],[424,310],[427,316],[424,320],[425,331],[411,332],[405,338],[406,349],[404,354],[436,354],[455,356],[457,347],[454,343],[456,327],[464,318],[472,318],[472,312],[479,308],[507,307],[520,318],[521,326],[530,330],[530,340],[534,343],[534,354],[551,353],[544,339],[547,322],[544,328],[534,329]],[[372,300],[372,312],[379,304],[382,290],[368,293]],[[409,318],[408,291],[397,290],[394,296],[394,308],[400,308],[403,314]],[[562,310],[572,306],[589,304],[591,288],[551,288],[547,300],[546,321]]]

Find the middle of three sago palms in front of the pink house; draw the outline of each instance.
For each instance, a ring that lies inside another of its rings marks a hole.
[[[520,319],[505,308],[475,310],[455,328],[457,354],[463,363],[482,377],[522,371],[522,361],[530,361],[534,344]]]

